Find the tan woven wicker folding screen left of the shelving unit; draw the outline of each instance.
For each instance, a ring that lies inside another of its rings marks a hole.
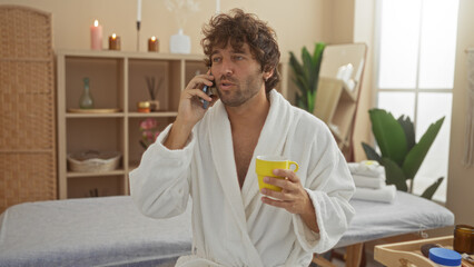
[[[51,14],[0,6],[0,212],[57,198]]]

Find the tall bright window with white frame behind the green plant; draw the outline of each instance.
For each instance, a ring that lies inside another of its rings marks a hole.
[[[450,128],[458,0],[377,1],[377,107],[411,117],[416,141],[428,126],[444,123],[414,179],[416,195],[437,178],[433,199],[446,201]]]

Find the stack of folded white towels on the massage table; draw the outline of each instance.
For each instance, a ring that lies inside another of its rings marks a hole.
[[[385,168],[374,160],[348,164],[354,178],[356,191],[354,199],[392,202],[395,199],[396,187],[385,182]]]

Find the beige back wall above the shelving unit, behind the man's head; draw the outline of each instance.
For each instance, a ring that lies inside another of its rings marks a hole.
[[[191,52],[201,53],[200,30],[215,13],[215,0],[200,0],[200,10],[188,17],[185,33],[190,36]],[[293,1],[271,0],[221,0],[220,10],[243,8],[257,13],[276,30],[283,58],[288,51],[298,51],[303,46],[314,47],[323,38],[322,14],[324,0]],[[0,4],[22,4],[52,13],[55,49],[89,49],[89,27],[98,19],[106,37],[116,32],[121,38],[122,50],[136,51],[137,1],[136,0],[0,0]],[[160,51],[169,52],[169,37],[178,31],[177,23],[162,0],[142,0],[140,51],[146,51],[146,41],[151,36],[160,40]]]

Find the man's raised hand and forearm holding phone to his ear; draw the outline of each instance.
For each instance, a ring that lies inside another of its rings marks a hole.
[[[167,148],[181,149],[185,147],[194,126],[203,119],[207,108],[217,100],[209,96],[213,85],[214,76],[209,71],[206,75],[194,77],[186,89],[181,91],[178,116],[165,141]],[[206,92],[203,91],[205,86],[207,86]],[[207,101],[207,105],[205,101]]]

